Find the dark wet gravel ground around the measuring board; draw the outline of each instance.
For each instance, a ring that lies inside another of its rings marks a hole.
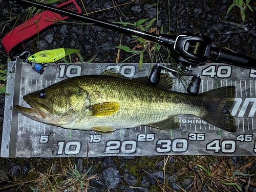
[[[82,8],[80,1],[77,1]],[[124,4],[127,1],[117,0],[118,5]],[[130,2],[130,1],[129,1]],[[84,0],[90,16],[100,18],[108,21],[125,21],[134,23],[139,19],[150,18],[153,19],[158,14],[158,25],[163,25],[164,32],[170,30],[170,34],[177,35],[184,32],[200,32],[212,38],[218,45],[225,45],[233,51],[237,51],[240,54],[244,54],[253,58],[256,58],[256,37],[248,33],[241,34],[229,34],[219,35],[219,32],[227,32],[237,30],[235,27],[226,25],[220,22],[219,18],[232,22],[241,23],[240,13],[238,8],[233,8],[228,15],[226,15],[228,7],[231,5],[231,0],[205,0],[205,1],[170,1],[170,22],[168,21],[168,5],[166,0],[159,1],[159,10],[157,12],[156,1],[136,1],[131,4],[119,6],[113,9],[113,2],[106,1],[92,1]],[[256,11],[255,3],[252,4],[252,8]],[[110,8],[110,9],[106,9]],[[0,40],[13,28],[14,25],[19,25],[24,22],[25,17],[20,16],[19,19],[9,20],[10,13],[12,16],[20,14],[25,11],[27,7],[19,6],[16,3],[0,0]],[[99,11],[103,10],[104,11]],[[96,12],[99,11],[99,12]],[[84,9],[83,9],[83,13]],[[246,23],[255,22],[255,13],[252,14],[246,9]],[[16,22],[16,23],[15,23]],[[84,60],[87,61],[92,58],[97,52],[99,52],[96,62],[115,62],[117,57],[117,49],[114,46],[119,45],[120,33],[115,33],[111,30],[101,28],[99,26],[86,25],[84,23],[77,23],[73,19],[69,19],[68,22],[55,25],[44,32],[39,34],[39,43],[37,37],[31,38],[24,42],[23,46],[19,46],[12,53],[15,56],[25,48],[31,53],[38,52],[38,50],[50,50],[59,47],[68,47],[72,49],[80,49],[81,55]],[[168,26],[169,23],[169,26]],[[155,24],[152,26],[155,27]],[[122,45],[134,47],[137,42],[135,38],[129,35],[123,35]],[[7,63],[7,54],[2,44],[0,44],[0,61],[2,64]],[[127,57],[131,56],[129,53],[121,51],[119,62],[123,61]],[[166,55],[163,55],[166,57]],[[126,62],[138,62],[139,56],[131,57]],[[147,54],[144,54],[144,62],[150,62]],[[4,117],[4,98],[5,95],[0,95],[0,125],[3,127]],[[2,136],[2,129],[0,135]],[[180,167],[172,167],[172,173],[164,176],[162,170],[163,163],[156,166],[138,167],[136,170],[138,175],[134,175],[134,170],[127,170],[127,164],[132,162],[138,162],[141,157],[127,156],[127,157],[95,157],[89,158],[89,164],[93,164],[93,169],[90,172],[97,173],[97,177],[89,181],[89,185],[92,188],[88,191],[154,191],[153,186],[157,186],[157,181],[164,182],[164,178],[170,187],[175,190],[184,188],[185,190],[193,190],[193,179],[190,177],[184,177],[182,180],[177,174],[180,171]],[[155,157],[158,158],[158,157]],[[158,160],[154,158],[154,163]],[[87,166],[84,165],[88,159],[74,158],[76,169],[80,173],[87,172]],[[29,158],[29,159],[4,159],[0,160],[0,180],[16,181],[21,176],[29,176],[32,170],[36,169],[38,173],[45,172],[47,169],[42,166],[43,164],[49,164],[51,169],[57,171],[59,169],[59,160],[48,158]],[[153,159],[152,159],[153,161]],[[174,164],[175,157],[170,157],[168,163]],[[247,163],[245,157],[230,157],[230,163],[240,169],[245,163]],[[228,163],[227,163],[228,164]],[[97,167],[96,167],[97,165]],[[250,169],[252,172],[256,171],[256,162],[254,162]],[[248,171],[248,170],[246,170]],[[147,173],[145,173],[147,172]],[[254,177],[255,178],[255,177]],[[255,182],[255,181],[254,181]],[[1,183],[0,185],[7,186],[9,183]],[[131,187],[132,186],[132,187]],[[135,188],[133,188],[135,186]],[[0,186],[1,188],[1,186]],[[196,190],[196,189],[195,189]],[[203,191],[209,191],[207,188],[203,188]],[[19,191],[18,186],[10,187],[6,191]],[[67,191],[67,190],[65,190]],[[157,191],[157,190],[155,190]],[[250,185],[248,191],[256,191],[255,186]]]

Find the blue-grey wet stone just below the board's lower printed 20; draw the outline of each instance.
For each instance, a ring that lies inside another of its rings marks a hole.
[[[110,167],[103,171],[106,187],[109,189],[115,188],[121,180],[121,175],[118,170]]]

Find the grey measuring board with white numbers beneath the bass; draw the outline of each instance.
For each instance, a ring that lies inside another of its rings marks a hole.
[[[30,107],[23,100],[23,95],[65,78],[101,74],[106,69],[138,78],[148,76],[152,64],[143,64],[138,73],[138,63],[62,63],[46,67],[42,75],[19,59],[15,71],[12,71],[14,64],[11,61],[8,66],[7,93],[10,95],[6,95],[2,157],[256,156],[256,70],[222,63],[208,63],[194,70],[194,74],[200,74],[202,78],[199,92],[236,86],[236,98],[231,109],[236,118],[236,133],[221,130],[192,115],[180,115],[181,128],[177,130],[140,126],[105,134],[39,123],[17,113],[14,106]],[[174,77],[172,90],[186,92],[186,86]]]

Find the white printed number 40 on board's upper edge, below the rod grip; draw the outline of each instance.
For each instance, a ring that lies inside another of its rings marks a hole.
[[[215,76],[218,78],[229,78],[231,76],[232,68],[229,65],[211,65],[202,70],[202,76],[210,76],[214,78]]]

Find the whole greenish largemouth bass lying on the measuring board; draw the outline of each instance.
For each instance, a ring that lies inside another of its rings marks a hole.
[[[25,95],[31,105],[16,110],[38,122],[67,129],[112,132],[141,125],[162,130],[180,127],[177,115],[191,114],[226,131],[235,132],[229,112],[234,86],[198,94],[166,90],[139,79],[88,75],[62,80]]]

